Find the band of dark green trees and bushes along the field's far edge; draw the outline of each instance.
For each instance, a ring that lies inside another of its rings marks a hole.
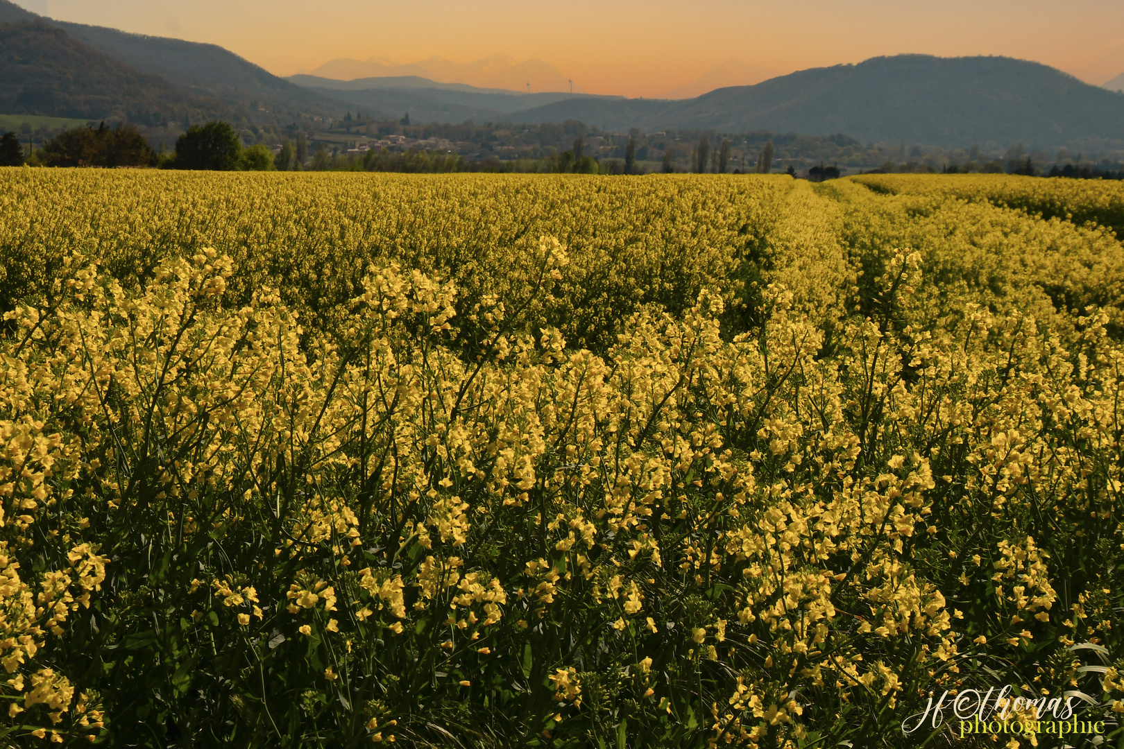
[[[347,131],[352,128],[380,131],[392,129],[388,124],[364,121],[362,117],[345,119]],[[133,124],[114,127],[102,122],[98,127],[63,130],[42,143],[38,149],[25,153],[24,144],[15,133],[0,137],[0,166],[27,163],[33,166],[100,166],[100,167],[155,167],[219,171],[369,171],[404,173],[443,172],[520,172],[520,173],[577,173],[577,174],[645,174],[695,173],[695,174],[768,174],[773,171],[787,172],[792,176],[813,181],[832,180],[844,173],[835,159],[795,159],[794,150],[815,144],[817,148],[847,150],[861,148],[853,139],[842,135],[827,138],[812,138],[796,135],[774,135],[765,131],[719,136],[710,130],[680,130],[678,133],[643,134],[637,129],[627,135],[599,134],[596,128],[570,120],[561,125],[519,126],[506,129],[490,122],[482,126],[462,124],[460,126],[413,126],[407,118],[393,124],[397,135],[404,133],[416,138],[432,137],[482,137],[492,147],[481,147],[473,153],[464,153],[464,141],[456,150],[427,150],[425,144],[417,144],[406,150],[371,148],[362,153],[329,150],[329,144],[315,141],[310,134],[294,128],[284,138],[280,153],[261,143],[263,137],[278,137],[277,133],[237,133],[223,121],[190,126],[175,141],[174,150],[166,152],[163,144],[153,149],[144,131]],[[583,133],[584,131],[584,133]],[[577,135],[574,135],[577,134]],[[311,134],[315,137],[315,134]],[[569,147],[541,147],[573,135],[565,144]],[[243,138],[257,137],[260,143],[248,147]],[[526,137],[540,145],[533,149],[511,148],[513,140]],[[502,150],[502,153],[501,153]],[[912,153],[917,153],[913,148]],[[905,155],[906,147],[897,147],[898,155]],[[960,153],[942,154],[945,163],[935,162],[934,154],[904,162],[886,161],[881,166],[865,173],[995,173],[1023,174],[1031,176],[1061,176],[1072,179],[1124,179],[1124,166],[1120,163],[1102,162],[1063,163],[1062,156],[1049,167],[1039,166],[1042,154],[1026,155],[1021,146],[1014,146],[999,156],[985,155],[979,147]],[[967,161],[962,159],[964,156]],[[1080,158],[1078,158],[1080,162]],[[779,165],[778,165],[779,162]],[[786,164],[787,162],[787,164]],[[852,167],[854,168],[854,167]],[[852,172],[853,173],[853,172]]]

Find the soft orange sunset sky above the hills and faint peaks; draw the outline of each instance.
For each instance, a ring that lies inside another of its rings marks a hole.
[[[734,57],[798,70],[905,52],[1124,73],[1122,0],[17,0],[60,20],[212,42],[279,75],[335,57],[538,57],[591,93],[655,97]]]

